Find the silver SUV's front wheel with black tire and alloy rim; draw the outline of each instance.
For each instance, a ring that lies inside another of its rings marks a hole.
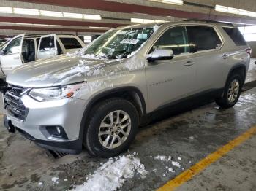
[[[83,135],[83,144],[91,155],[116,156],[126,151],[135,139],[138,121],[138,112],[129,101],[123,98],[102,101],[91,110],[91,117]],[[99,133],[102,134],[99,135]]]

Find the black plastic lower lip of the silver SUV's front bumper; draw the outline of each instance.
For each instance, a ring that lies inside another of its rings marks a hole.
[[[80,139],[72,141],[46,141],[42,139],[36,139],[34,138],[34,136],[31,136],[31,134],[27,133],[25,130],[17,128],[15,125],[13,125],[12,121],[9,120],[6,115],[4,115],[4,127],[7,128],[7,130],[10,133],[15,133],[15,131],[18,131],[26,139],[34,141],[35,144],[45,149],[50,149],[59,152],[67,152],[70,154],[79,154],[82,151],[82,140]]]

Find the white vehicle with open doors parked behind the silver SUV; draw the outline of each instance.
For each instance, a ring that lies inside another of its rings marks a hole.
[[[82,47],[85,47],[85,44],[78,36],[20,34],[0,48],[0,78],[6,77],[23,63],[74,52]]]

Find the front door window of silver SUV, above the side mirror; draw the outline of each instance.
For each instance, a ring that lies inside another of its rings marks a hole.
[[[186,28],[175,27],[165,31],[157,40],[150,52],[156,49],[171,49],[174,55],[189,52],[189,43],[187,39]]]

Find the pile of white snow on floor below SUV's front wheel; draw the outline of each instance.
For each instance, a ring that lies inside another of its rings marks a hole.
[[[132,179],[137,171],[141,178],[145,178],[148,171],[137,157],[132,155],[110,158],[107,163],[89,175],[89,179],[83,185],[75,187],[76,190],[117,190],[126,179]]]

